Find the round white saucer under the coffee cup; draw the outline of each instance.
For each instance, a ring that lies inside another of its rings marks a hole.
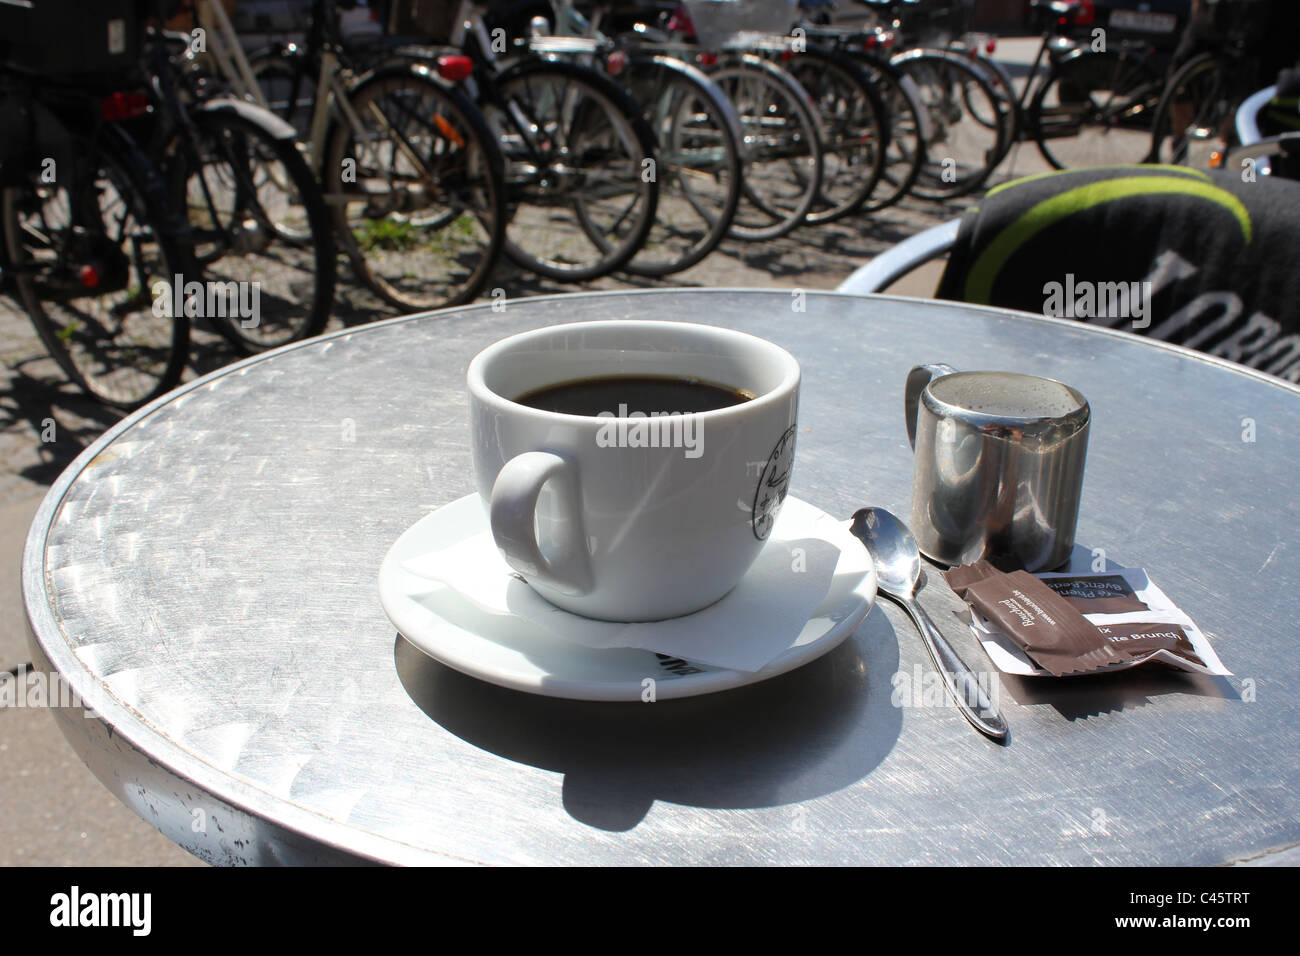
[[[803,630],[792,635],[788,649],[757,671],[692,663],[640,648],[584,646],[517,615],[485,613],[473,602],[460,600],[450,588],[406,570],[403,563],[408,561],[455,548],[488,531],[488,518],[477,494],[445,505],[396,540],[380,568],[380,601],[398,631],[425,654],[500,687],[571,700],[640,701],[647,693],[649,678],[654,680],[655,700],[714,693],[785,674],[826,654],[853,633],[875,602],[876,576],[870,555],[849,533],[845,522],[786,497],[780,525],[788,535],[827,540],[840,554],[829,591]],[[727,602],[736,593],[706,609],[716,615],[719,627],[725,627],[728,617],[740,615],[738,605],[732,606],[731,615],[727,613]],[[540,597],[536,600],[545,604]],[[586,633],[606,623],[558,609],[555,613],[572,617],[575,626],[580,624]],[[623,626],[608,624],[611,630],[619,627]],[[664,620],[649,627],[680,624]]]

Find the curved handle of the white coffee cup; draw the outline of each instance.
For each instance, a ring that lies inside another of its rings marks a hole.
[[[555,554],[542,554],[537,542],[537,497],[554,480],[559,492],[563,537]],[[592,564],[577,494],[573,464],[550,451],[525,451],[506,462],[497,475],[489,507],[491,536],[512,568],[530,584],[543,584],[563,594],[592,591]]]

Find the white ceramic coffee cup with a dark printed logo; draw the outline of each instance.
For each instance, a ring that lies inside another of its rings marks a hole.
[[[662,418],[566,415],[515,401],[619,376],[753,398]],[[468,385],[474,477],[493,537],[551,604],[606,620],[690,614],[736,587],[762,550],[794,457],[800,367],[784,349],[688,323],[554,325],[485,349]]]

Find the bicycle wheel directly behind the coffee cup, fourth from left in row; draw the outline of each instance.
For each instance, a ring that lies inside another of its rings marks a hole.
[[[506,255],[560,282],[627,265],[659,204],[659,160],[641,108],[590,68],[541,59],[508,68],[488,95],[506,155]]]

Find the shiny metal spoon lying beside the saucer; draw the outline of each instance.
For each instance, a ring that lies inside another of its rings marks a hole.
[[[920,550],[907,525],[884,509],[864,507],[853,512],[849,531],[871,553],[876,567],[876,583],[887,597],[893,598],[911,617],[930,652],[935,667],[944,678],[948,693],[976,730],[994,740],[1006,739],[1006,722],[997,713],[993,701],[984,693],[975,675],[957,656],[952,645],[935,627],[924,609],[914,600],[920,581]]]

